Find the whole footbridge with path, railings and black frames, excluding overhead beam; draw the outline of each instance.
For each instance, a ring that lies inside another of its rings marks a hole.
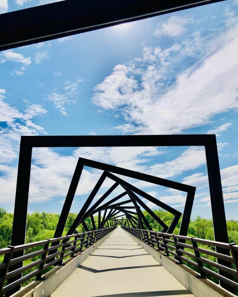
[[[54,238],[25,244],[32,147],[145,146],[145,143],[205,146],[215,241],[187,236],[195,187],[79,157]],[[102,174],[63,236],[84,166],[101,170]],[[106,178],[114,184],[99,199],[94,199]],[[183,214],[129,183],[130,178],[187,193]],[[117,191],[114,198],[109,198],[118,187],[123,192],[118,195]],[[129,199],[123,200],[125,196]],[[145,200],[172,214],[172,221],[164,222]],[[161,226],[161,232],[152,230],[140,207]],[[179,234],[174,234],[181,217]],[[87,226],[89,221],[93,230]],[[83,233],[77,231],[81,224]],[[0,256],[0,296],[235,296],[238,246],[228,243],[215,136],[22,137],[12,245],[1,249]]]

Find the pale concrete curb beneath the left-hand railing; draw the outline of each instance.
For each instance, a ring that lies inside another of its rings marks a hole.
[[[114,231],[114,230],[113,230]],[[111,231],[104,238],[97,241],[92,246],[85,249],[83,252],[76,257],[69,258],[65,261],[64,266],[57,266],[45,274],[45,280],[34,281],[22,287],[18,292],[13,294],[11,297],[49,297],[62,282],[71,275],[71,273],[83,263],[92,252],[97,249],[104,240],[112,234]],[[83,284],[82,284],[83,285]]]

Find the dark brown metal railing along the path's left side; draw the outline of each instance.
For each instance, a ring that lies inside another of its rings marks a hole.
[[[0,263],[0,296],[6,293],[9,295],[12,289],[32,277],[36,277],[36,280],[42,279],[43,272],[47,268],[64,265],[63,261],[66,257],[75,257],[83,249],[100,240],[114,229],[112,227],[87,231],[0,249],[0,256],[4,256],[2,263]],[[57,245],[54,245],[55,242],[57,242]],[[24,251],[24,255],[15,258],[14,253],[19,251]],[[50,253],[52,251],[54,251],[53,254]],[[24,261],[32,262],[24,265]],[[11,271],[11,266],[15,264],[20,267]],[[35,268],[35,270],[31,271],[32,268]],[[28,273],[22,276],[26,271]]]

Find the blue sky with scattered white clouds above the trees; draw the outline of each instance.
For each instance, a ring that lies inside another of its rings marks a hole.
[[[49,2],[0,0],[0,12]],[[237,12],[223,1],[0,52],[1,207],[14,209],[21,135],[209,133],[226,217],[238,220]],[[211,217],[200,147],[34,149],[29,212],[60,213],[79,156],[193,185],[192,217]],[[100,175],[85,168],[71,211]],[[129,181],[183,212],[185,193]]]

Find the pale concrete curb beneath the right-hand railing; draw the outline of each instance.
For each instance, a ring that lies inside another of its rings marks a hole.
[[[223,289],[209,279],[199,279],[197,273],[185,265],[177,265],[176,260],[164,256],[163,252],[149,246],[129,232],[125,231],[134,241],[143,247],[157,262],[159,262],[170,274],[172,274],[195,297],[237,297]]]

